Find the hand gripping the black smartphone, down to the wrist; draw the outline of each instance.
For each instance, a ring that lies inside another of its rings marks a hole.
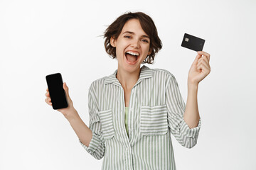
[[[73,107],[73,101],[71,100],[71,98],[68,94],[68,86],[67,86],[66,83],[63,83],[63,89],[65,90],[65,94],[66,94],[66,97],[67,97],[68,108],[59,108],[59,109],[57,109],[57,111],[63,113],[65,118],[75,117],[75,115],[77,115],[78,112],[75,111],[75,108]],[[49,93],[48,88],[46,89],[46,103],[48,103],[48,105],[50,105],[50,106],[53,105],[53,103],[51,103],[50,93]]]

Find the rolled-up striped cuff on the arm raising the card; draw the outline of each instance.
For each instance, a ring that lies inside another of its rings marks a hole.
[[[185,120],[183,119],[180,126],[180,132],[187,137],[198,137],[199,130],[201,128],[201,118],[199,119],[198,126],[195,128],[189,128],[188,124],[186,124]]]

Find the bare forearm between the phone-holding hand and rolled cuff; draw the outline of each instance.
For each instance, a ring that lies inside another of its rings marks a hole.
[[[89,146],[90,141],[92,140],[92,130],[85,125],[85,123],[80,118],[78,112],[74,110],[74,114],[72,114],[72,117],[66,117],[72,126],[73,130],[75,131],[76,135],[78,135],[78,138],[80,142],[82,142],[83,145]]]

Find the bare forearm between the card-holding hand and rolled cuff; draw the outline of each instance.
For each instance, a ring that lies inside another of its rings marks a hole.
[[[186,110],[183,118],[189,128],[195,128],[200,119],[198,111],[198,84],[188,84],[188,98],[186,102]]]

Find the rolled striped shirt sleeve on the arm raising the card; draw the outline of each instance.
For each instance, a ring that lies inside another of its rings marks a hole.
[[[196,145],[198,133],[201,128],[201,119],[197,127],[189,128],[183,119],[186,105],[173,75],[166,86],[167,117],[171,133],[183,147],[191,148]]]

